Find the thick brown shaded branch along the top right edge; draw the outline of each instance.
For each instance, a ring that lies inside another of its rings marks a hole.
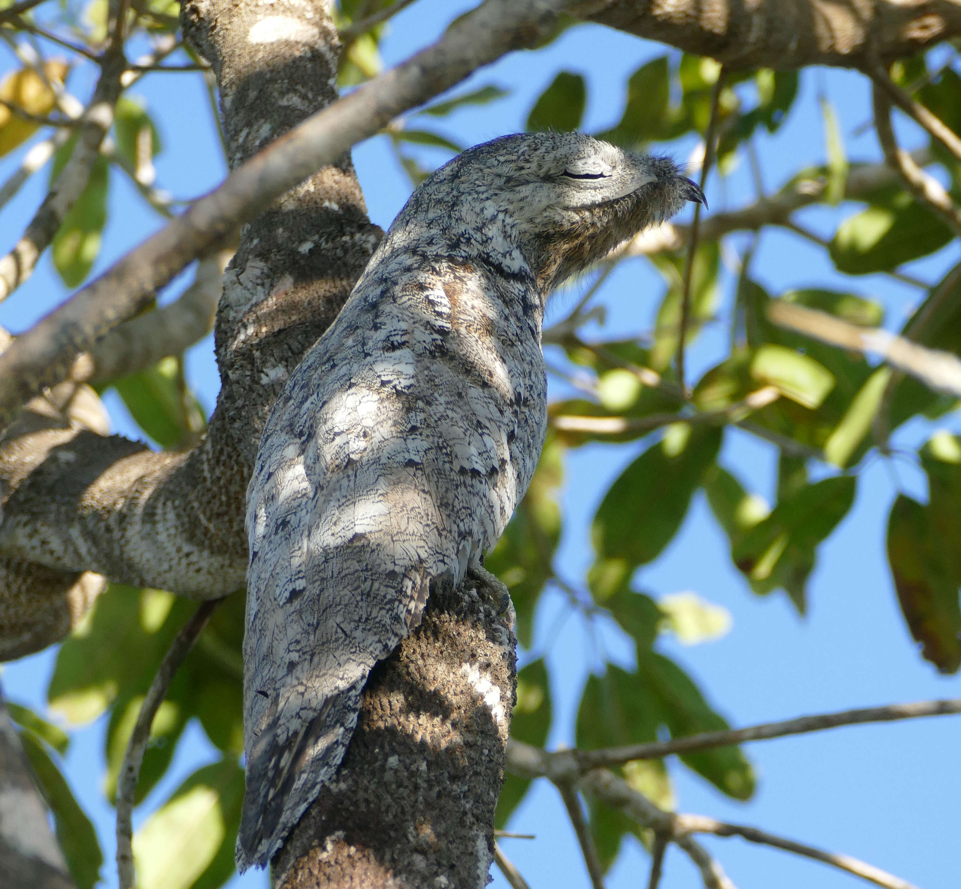
[[[860,67],[961,33],[958,0],[613,0],[590,17],[735,69]]]

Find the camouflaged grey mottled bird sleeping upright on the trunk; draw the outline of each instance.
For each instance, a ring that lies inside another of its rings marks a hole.
[[[247,791],[263,866],[336,772],[374,664],[505,529],[544,443],[548,294],[701,190],[590,136],[505,136],[414,191],[291,375],[247,492]]]

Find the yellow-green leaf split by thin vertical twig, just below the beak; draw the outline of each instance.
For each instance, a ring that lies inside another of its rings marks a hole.
[[[651,259],[668,284],[667,293],[657,309],[651,350],[651,366],[660,373],[667,369],[678,351],[685,259],[680,254],[660,254]],[[717,241],[708,241],[698,247],[691,269],[690,317],[684,340],[688,346],[694,342],[717,309],[720,260],[721,251]]]

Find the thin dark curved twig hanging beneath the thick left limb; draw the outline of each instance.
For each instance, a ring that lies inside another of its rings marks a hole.
[[[133,824],[134,813],[134,792],[136,791],[136,779],[140,775],[140,764],[143,762],[143,754],[147,749],[147,742],[150,740],[150,728],[154,724],[154,717],[166,697],[167,688],[171,680],[184,662],[184,658],[193,648],[197,636],[203,632],[210,619],[210,615],[224,602],[224,599],[210,599],[202,603],[193,616],[186,622],[185,627],[177,634],[177,638],[171,643],[167,653],[160,661],[157,675],[150,683],[147,696],[143,699],[140,706],[140,713],[136,718],[136,725],[131,732],[130,741],[127,744],[127,753],[124,753],[123,765],[120,767],[120,775],[117,778],[117,875],[120,880],[120,889],[134,889],[136,877],[134,873],[134,847],[133,847]]]

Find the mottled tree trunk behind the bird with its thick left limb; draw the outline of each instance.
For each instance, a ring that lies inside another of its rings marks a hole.
[[[336,33],[319,0],[189,2],[184,31],[217,70],[232,165],[335,98]],[[23,597],[8,593],[35,579],[37,565],[58,572],[61,586],[81,571],[196,598],[243,585],[244,494],[267,413],[380,236],[349,158],[245,227],[217,312],[221,393],[192,452],[156,454],[71,428],[8,432],[0,555],[12,556],[12,567],[0,587],[0,636],[15,625],[21,640],[32,635],[42,646],[56,641],[49,628],[71,626],[63,597],[51,595],[37,599],[37,630],[21,626]]]

